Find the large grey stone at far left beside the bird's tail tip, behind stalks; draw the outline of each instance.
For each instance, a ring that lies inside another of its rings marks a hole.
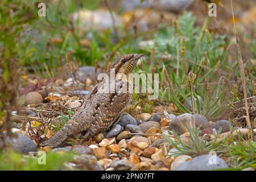
[[[5,137],[5,142],[13,148],[15,152],[20,152],[22,154],[27,154],[28,152],[35,152],[36,146],[34,142],[27,136],[22,134],[16,134],[15,137],[7,137],[6,133],[3,132]],[[0,148],[2,146],[2,140],[0,139]]]

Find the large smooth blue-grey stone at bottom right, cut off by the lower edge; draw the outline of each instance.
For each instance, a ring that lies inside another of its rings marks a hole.
[[[218,156],[200,155],[177,166],[177,171],[212,171],[218,168],[228,168],[228,164]]]

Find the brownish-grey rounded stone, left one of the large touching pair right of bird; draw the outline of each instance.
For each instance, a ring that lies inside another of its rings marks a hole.
[[[192,114],[189,113],[178,115],[170,122],[169,129],[174,130],[178,135],[187,133],[189,131],[188,127],[192,127],[191,117]]]

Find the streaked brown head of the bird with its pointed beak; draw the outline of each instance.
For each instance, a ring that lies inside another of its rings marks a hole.
[[[131,53],[129,55],[123,55],[118,57],[111,65],[110,72],[114,72],[115,74],[125,74],[128,76],[129,73],[133,70],[135,64],[137,61],[145,55],[137,54],[137,53]]]

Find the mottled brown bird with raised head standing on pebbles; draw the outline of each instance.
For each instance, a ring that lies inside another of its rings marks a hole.
[[[90,90],[79,111],[60,131],[40,145],[56,147],[69,135],[79,134],[82,131],[86,131],[84,138],[89,139],[118,122],[120,113],[131,101],[129,73],[143,55],[129,54],[118,57],[112,63],[107,75]],[[114,81],[111,79],[113,73]]]

